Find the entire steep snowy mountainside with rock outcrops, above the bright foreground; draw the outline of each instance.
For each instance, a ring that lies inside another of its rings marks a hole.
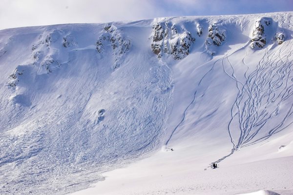
[[[0,194],[74,192],[162,146],[200,169],[292,156],[292,18],[0,31]]]

